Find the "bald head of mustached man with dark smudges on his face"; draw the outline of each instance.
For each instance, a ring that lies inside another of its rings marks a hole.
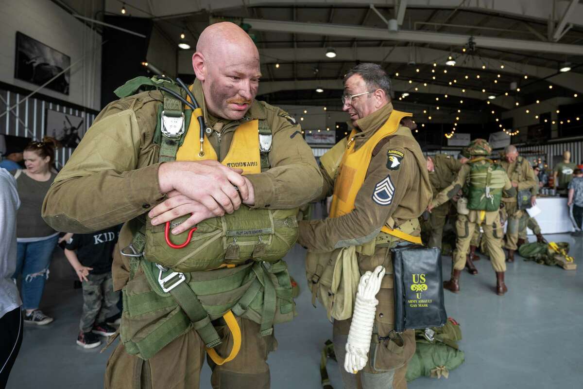
[[[202,31],[192,55],[192,67],[202,83],[210,114],[242,118],[259,87],[259,52],[237,24],[211,24]]]

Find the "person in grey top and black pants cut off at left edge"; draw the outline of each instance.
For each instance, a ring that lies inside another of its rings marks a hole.
[[[6,387],[22,344],[22,300],[12,281],[16,269],[16,212],[19,206],[16,180],[0,168],[0,388]]]

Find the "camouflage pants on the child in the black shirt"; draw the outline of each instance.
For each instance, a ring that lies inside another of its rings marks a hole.
[[[89,274],[88,281],[83,281],[83,313],[79,329],[89,332],[93,324],[103,323],[107,317],[113,316],[118,309],[115,306],[120,299],[120,292],[114,292],[111,272],[104,274]]]

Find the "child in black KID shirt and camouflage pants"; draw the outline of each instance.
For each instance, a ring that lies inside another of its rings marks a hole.
[[[120,299],[120,293],[113,290],[111,278],[113,250],[119,232],[116,226],[90,234],[73,234],[65,246],[65,257],[83,287],[83,313],[77,344],[86,349],[100,345],[97,335],[109,336],[115,332],[105,320],[116,313],[115,304]]]

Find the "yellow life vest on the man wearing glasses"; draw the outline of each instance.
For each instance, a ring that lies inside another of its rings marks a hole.
[[[350,140],[347,143],[347,148],[342,157],[342,162],[340,162],[340,173],[334,185],[332,205],[330,208],[331,218],[338,218],[338,216],[346,215],[353,211],[356,195],[366,178],[368,165],[373,156],[373,149],[381,139],[394,134],[399,128],[399,122],[407,116],[412,116],[412,114],[393,110],[385,124],[364,145],[361,145],[358,150],[354,150],[354,135],[357,134],[357,131],[356,129],[352,130],[349,136]],[[386,225],[382,227],[381,232],[412,243],[422,243],[420,237],[404,233],[399,229],[391,229]]]

